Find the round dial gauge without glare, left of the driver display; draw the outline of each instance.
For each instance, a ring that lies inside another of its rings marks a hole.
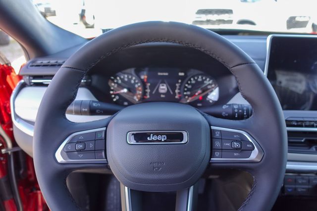
[[[141,80],[127,73],[117,73],[108,81],[113,102],[120,105],[139,103],[142,99],[143,86]]]

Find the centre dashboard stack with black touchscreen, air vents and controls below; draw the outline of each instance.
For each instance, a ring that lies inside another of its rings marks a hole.
[[[281,103],[287,127],[282,194],[316,197],[317,36],[269,36],[265,75]]]

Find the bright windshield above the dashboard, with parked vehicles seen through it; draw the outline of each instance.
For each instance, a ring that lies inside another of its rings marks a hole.
[[[33,0],[53,24],[85,38],[142,21],[211,30],[316,33],[315,0]]]

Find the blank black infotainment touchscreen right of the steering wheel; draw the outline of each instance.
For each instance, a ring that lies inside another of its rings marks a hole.
[[[265,71],[283,110],[317,110],[317,37],[269,40]]]

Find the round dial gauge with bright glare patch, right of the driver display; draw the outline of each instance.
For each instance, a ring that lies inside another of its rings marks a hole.
[[[183,99],[180,102],[200,107],[209,106],[218,98],[219,87],[216,81],[205,74],[198,74],[183,85]]]

